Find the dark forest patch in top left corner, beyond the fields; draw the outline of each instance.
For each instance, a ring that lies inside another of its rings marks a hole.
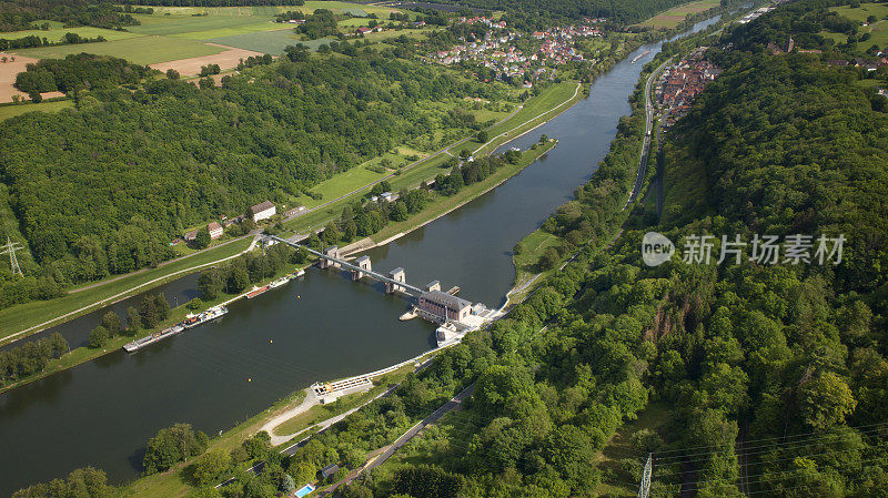
[[[105,0],[0,0],[0,31],[30,30],[37,20],[108,29],[139,24],[135,18]]]

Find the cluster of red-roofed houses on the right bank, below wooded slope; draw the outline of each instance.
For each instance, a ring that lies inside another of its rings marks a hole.
[[[694,99],[722,72],[704,57],[707,48],[696,49],[660,75],[656,94],[666,115],[664,125],[669,126],[685,115]]]

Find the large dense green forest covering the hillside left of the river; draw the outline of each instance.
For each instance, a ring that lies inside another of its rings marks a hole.
[[[70,284],[157,264],[172,256],[167,242],[183,227],[265,199],[290,202],[397,144],[431,150],[436,131],[483,125],[433,103],[507,96],[505,87],[400,60],[391,49],[336,49],[351,57],[291,50],[200,89],[110,58],[32,67],[21,88],[54,85],[77,100],[75,111],[31,113],[0,130],[9,204],[43,275]],[[21,287],[0,287],[2,305],[33,297]]]

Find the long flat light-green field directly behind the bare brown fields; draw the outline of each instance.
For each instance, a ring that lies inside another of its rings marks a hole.
[[[40,47],[18,50],[16,53],[38,59],[59,59],[72,53],[88,52],[119,57],[137,64],[154,64],[178,59],[211,55],[223,50],[225,49],[222,47],[210,45],[196,40],[171,37],[139,37],[107,41],[104,43]]]

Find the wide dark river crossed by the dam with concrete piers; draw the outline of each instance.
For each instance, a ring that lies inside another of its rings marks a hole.
[[[700,22],[694,31],[715,20]],[[515,271],[512,247],[595,171],[627,99],[659,43],[639,48],[553,121],[505,146],[547,134],[558,146],[494,191],[384,247],[374,270],[406,270],[407,282],[441,280],[461,296],[498,307]],[[632,59],[649,50],[636,63]],[[194,277],[164,286],[192,297]],[[381,286],[310,268],[304,278],[240,301],[221,321],[135,355],[122,352],[0,395],[0,496],[94,466],[114,482],[139,472],[145,440],[188,421],[213,435],[313,382],[410,358],[433,344],[433,326],[397,317],[406,303]],[[100,313],[57,327],[79,345]]]

